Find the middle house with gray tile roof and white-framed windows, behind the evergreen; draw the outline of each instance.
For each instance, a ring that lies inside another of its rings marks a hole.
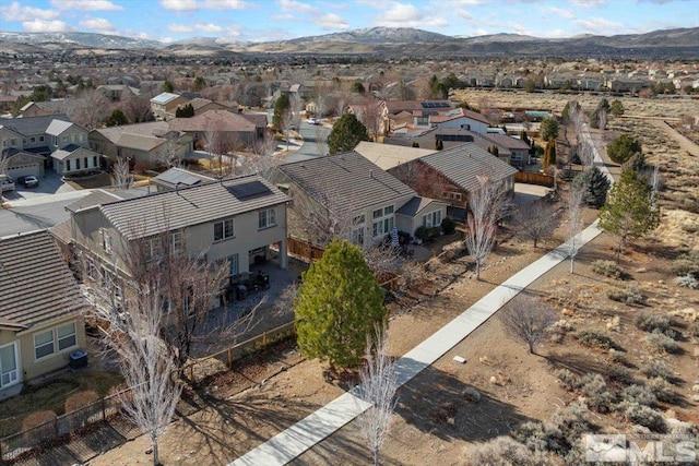
[[[413,189],[356,152],[277,166],[273,181],[292,198],[289,234],[315,242],[313,228],[369,247],[395,228],[411,236],[437,226],[447,204]]]

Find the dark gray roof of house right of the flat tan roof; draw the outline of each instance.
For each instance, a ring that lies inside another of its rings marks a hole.
[[[514,176],[517,168],[482,150],[474,143],[446,148],[420,158],[422,162],[441,172],[465,191],[479,187],[478,176],[500,181]]]

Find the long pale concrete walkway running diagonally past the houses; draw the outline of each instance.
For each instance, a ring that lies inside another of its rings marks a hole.
[[[587,127],[584,127],[584,136],[590,138]],[[612,179],[596,147],[594,144],[592,144],[592,146],[594,147],[595,165]],[[576,241],[582,247],[596,238],[601,232],[597,227],[597,222],[595,220],[577,236]],[[536,262],[516,273],[429,338],[400,358],[396,361],[399,386],[407,383],[425,368],[441,358],[520,291],[562,262],[568,256],[569,250],[569,241],[566,241]],[[249,451],[228,466],[273,466],[289,463],[368,409],[369,404],[358,398],[356,394],[356,389],[343,394],[285,431],[280,432],[265,443]]]

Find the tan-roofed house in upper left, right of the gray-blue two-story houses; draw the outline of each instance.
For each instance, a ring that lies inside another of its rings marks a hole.
[[[183,158],[193,150],[189,135],[171,131],[165,121],[100,128],[90,132],[90,147],[110,162],[126,157],[153,166],[158,158]]]

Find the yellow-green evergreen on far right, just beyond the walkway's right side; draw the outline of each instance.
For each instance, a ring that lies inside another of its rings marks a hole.
[[[600,228],[619,238],[617,263],[629,239],[641,238],[657,227],[660,211],[652,194],[645,177],[635,170],[621,171],[621,178],[612,187],[600,212]]]

